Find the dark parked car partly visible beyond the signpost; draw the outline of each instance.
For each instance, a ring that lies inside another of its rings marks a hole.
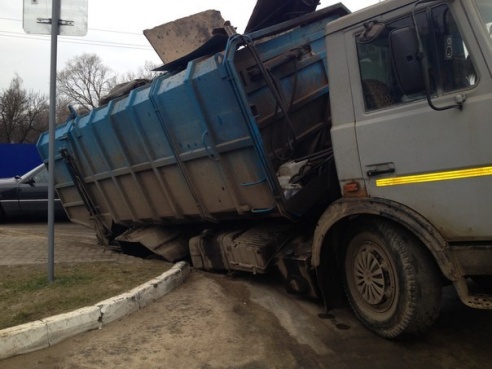
[[[29,172],[0,179],[0,217],[48,215],[48,171],[41,164]],[[55,216],[66,217],[55,194]]]

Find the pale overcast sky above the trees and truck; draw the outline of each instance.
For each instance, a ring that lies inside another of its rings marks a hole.
[[[0,91],[8,88],[17,73],[25,89],[48,93],[50,36],[24,32],[23,1],[0,0]],[[321,0],[318,9],[337,2]],[[378,0],[342,2],[356,11]],[[144,29],[215,9],[242,33],[256,0],[88,0],[88,3],[87,35],[58,38],[58,71],[69,59],[82,53],[98,54],[105,65],[120,74],[136,71],[146,61],[160,64],[159,57],[143,36]]]

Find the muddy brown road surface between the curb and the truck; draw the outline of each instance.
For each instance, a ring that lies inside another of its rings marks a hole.
[[[193,271],[138,313],[0,368],[492,368],[492,312],[467,308],[449,287],[418,339],[381,339],[348,308],[320,313],[271,277]]]

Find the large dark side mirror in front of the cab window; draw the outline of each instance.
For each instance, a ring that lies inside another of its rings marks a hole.
[[[408,95],[425,92],[425,76],[418,58],[418,40],[412,27],[390,32],[389,43],[396,77],[401,90]]]

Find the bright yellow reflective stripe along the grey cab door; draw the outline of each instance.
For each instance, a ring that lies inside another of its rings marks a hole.
[[[450,170],[446,172],[436,172],[427,174],[417,174],[411,176],[383,178],[376,180],[377,187],[396,186],[410,183],[447,181],[450,179],[462,179],[481,176],[491,176],[492,166],[472,169]]]

